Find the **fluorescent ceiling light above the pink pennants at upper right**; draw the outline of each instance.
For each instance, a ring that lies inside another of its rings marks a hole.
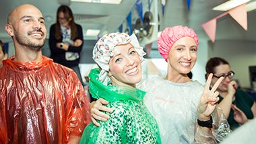
[[[222,3],[218,5],[217,7],[214,7],[213,10],[215,11],[228,11],[234,7],[237,7],[238,5],[242,5],[243,3],[247,3],[251,0],[230,0],[225,3]]]

